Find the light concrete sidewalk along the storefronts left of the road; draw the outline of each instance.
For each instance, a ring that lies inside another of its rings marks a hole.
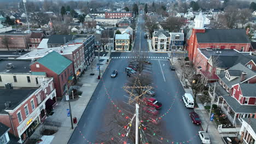
[[[106,57],[100,57],[100,59],[104,59],[104,61],[100,62],[101,64],[101,76],[103,75],[104,71],[106,70],[109,63],[107,63],[107,59],[109,58],[110,53]],[[79,122],[86,106],[88,105],[92,94],[94,93],[98,83],[100,80],[97,79],[98,70],[96,68],[96,64],[98,63],[98,57],[95,57],[94,61],[92,61],[92,72],[91,72],[91,65],[85,71],[85,73],[79,77],[78,83],[82,83],[83,86],[80,87],[79,91],[82,91],[83,94],[80,98],[71,99],[71,110],[72,110],[72,117],[77,117],[77,123]],[[95,75],[90,75],[94,73]],[[67,117],[67,110],[68,102],[63,98],[61,101],[57,101],[57,106],[55,107],[54,114],[49,116],[46,120],[47,121],[54,121],[54,122],[61,122],[61,127],[59,130],[53,135],[54,138],[50,142],[52,144],[59,144],[59,143],[67,143],[69,138],[71,137],[76,125],[74,124],[74,129],[71,129],[71,120],[70,117]],[[39,134],[39,129],[42,127],[37,128],[34,132],[35,135]],[[33,135],[34,135],[33,134]]]

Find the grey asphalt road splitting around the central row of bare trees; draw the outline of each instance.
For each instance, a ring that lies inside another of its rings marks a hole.
[[[148,51],[143,25],[144,20],[140,17],[133,51]],[[117,130],[121,128],[109,122],[112,120],[115,104],[127,101],[123,86],[129,78],[126,77],[124,69],[131,60],[130,57],[135,55],[136,52],[112,53],[112,57],[118,58],[110,61],[68,143],[99,143],[113,138],[110,135],[114,135],[114,139],[120,139]],[[162,109],[159,110],[159,116],[162,116],[162,132],[154,136],[154,143],[201,143],[197,136],[201,126],[191,122],[189,112],[193,110],[187,109],[181,100],[184,89],[175,71],[171,71],[168,66],[170,61],[166,59],[167,53],[143,52],[143,56],[149,57],[148,61],[152,62],[152,86],[156,92],[155,98],[162,103]],[[112,79],[110,74],[115,69],[119,74]],[[119,116],[117,113],[114,115]]]

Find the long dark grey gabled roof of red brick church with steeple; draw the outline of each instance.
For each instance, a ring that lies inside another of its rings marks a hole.
[[[245,29],[206,29],[196,38],[198,43],[251,43]]]

